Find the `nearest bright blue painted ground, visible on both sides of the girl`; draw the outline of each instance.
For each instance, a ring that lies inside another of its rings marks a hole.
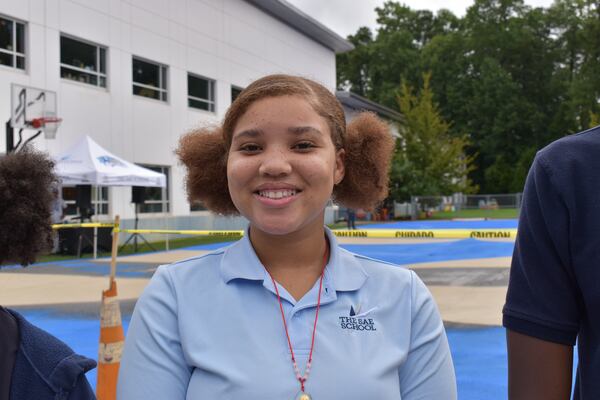
[[[79,354],[96,359],[100,322],[48,311],[22,312],[33,324],[68,343]],[[123,316],[125,330],[130,316]],[[461,400],[506,399],[506,349],[503,328],[447,330]],[[96,387],[96,370],[87,374]]]

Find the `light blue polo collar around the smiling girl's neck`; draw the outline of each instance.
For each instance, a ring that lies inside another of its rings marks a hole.
[[[260,262],[246,228],[244,237],[229,246],[221,259],[221,276],[225,283],[234,279],[265,281],[268,274]],[[333,232],[325,227],[330,244],[329,263],[325,269],[324,283],[334,291],[354,291],[360,289],[368,274],[352,253],[339,247]]]

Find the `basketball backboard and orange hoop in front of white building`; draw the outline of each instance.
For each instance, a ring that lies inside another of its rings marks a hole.
[[[11,84],[10,124],[14,129],[37,129],[54,138],[61,119],[56,115],[56,92]]]

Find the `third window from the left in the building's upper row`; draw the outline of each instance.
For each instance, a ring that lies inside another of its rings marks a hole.
[[[167,66],[134,57],[133,94],[167,101]]]

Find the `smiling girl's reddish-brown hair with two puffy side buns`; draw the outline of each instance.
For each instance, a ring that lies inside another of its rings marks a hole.
[[[327,121],[336,149],[344,149],[345,176],[332,193],[336,202],[373,210],[387,197],[394,150],[387,124],[375,114],[363,112],[346,127],[342,105],[323,85],[297,76],[269,75],[240,93],[221,126],[195,129],[181,138],[176,153],[187,168],[190,202],[201,202],[220,214],[239,214],[227,187],[227,157],[233,131],[252,103],[278,96],[300,96],[308,101]]]

